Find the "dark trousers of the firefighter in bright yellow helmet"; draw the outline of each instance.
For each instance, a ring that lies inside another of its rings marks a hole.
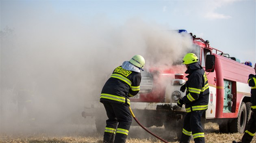
[[[191,135],[195,143],[204,143],[204,128],[201,117],[204,111],[191,111],[186,114],[181,134],[180,143],[189,143]]]

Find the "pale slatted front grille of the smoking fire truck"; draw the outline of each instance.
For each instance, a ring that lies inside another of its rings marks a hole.
[[[153,77],[148,71],[141,71],[141,84],[139,93],[150,93],[153,88]]]

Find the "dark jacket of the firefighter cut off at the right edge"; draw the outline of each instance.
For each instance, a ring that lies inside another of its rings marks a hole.
[[[256,109],[256,75],[249,77],[248,84],[251,88],[252,109]]]

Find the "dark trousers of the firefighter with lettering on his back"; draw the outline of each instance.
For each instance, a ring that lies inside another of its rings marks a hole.
[[[102,101],[102,103],[108,116],[103,143],[125,143],[132,124],[129,105],[108,101]]]

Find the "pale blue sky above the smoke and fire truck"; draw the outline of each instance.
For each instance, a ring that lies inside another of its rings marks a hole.
[[[0,4],[1,30],[9,26],[18,31],[33,20],[45,19],[47,24],[56,15],[83,24],[100,17],[117,28],[137,18],[167,30],[187,29],[241,62],[256,62],[255,0],[1,0]]]

